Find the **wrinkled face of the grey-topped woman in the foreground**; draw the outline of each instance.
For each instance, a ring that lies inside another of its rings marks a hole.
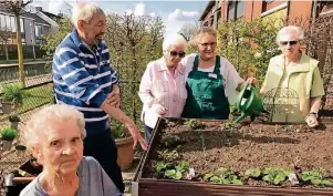
[[[44,168],[60,175],[76,173],[83,156],[81,131],[73,120],[53,121],[34,149]]]

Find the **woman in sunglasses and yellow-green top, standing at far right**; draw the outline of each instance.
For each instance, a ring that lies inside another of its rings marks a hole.
[[[296,92],[298,97],[292,99],[299,100],[299,107],[290,114],[273,114],[272,121],[305,121],[310,127],[314,127],[318,125],[321,97],[325,93],[318,68],[319,61],[311,59],[300,50],[303,39],[304,31],[295,25],[284,27],[278,32],[277,42],[282,54],[270,60],[260,92],[266,94],[277,87]],[[285,100],[285,104],[292,104],[288,103],[290,101],[291,99]]]

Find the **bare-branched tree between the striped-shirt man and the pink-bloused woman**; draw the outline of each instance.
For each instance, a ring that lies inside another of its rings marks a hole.
[[[112,54],[112,64],[122,81],[122,94],[125,95],[122,102],[126,103],[122,107],[134,120],[138,118],[137,112],[142,106],[136,95],[138,84],[148,62],[162,56],[163,33],[160,17],[137,17],[133,13],[107,16],[105,41]]]

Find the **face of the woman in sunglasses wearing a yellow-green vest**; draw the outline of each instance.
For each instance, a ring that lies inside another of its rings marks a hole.
[[[301,48],[300,41],[294,33],[281,34],[279,45],[285,56],[298,54]]]

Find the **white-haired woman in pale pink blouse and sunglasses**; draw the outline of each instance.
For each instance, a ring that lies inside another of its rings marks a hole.
[[[186,40],[171,34],[163,42],[163,56],[149,62],[139,85],[139,97],[144,104],[142,120],[145,138],[149,142],[158,116],[180,117],[186,99],[184,68]]]

